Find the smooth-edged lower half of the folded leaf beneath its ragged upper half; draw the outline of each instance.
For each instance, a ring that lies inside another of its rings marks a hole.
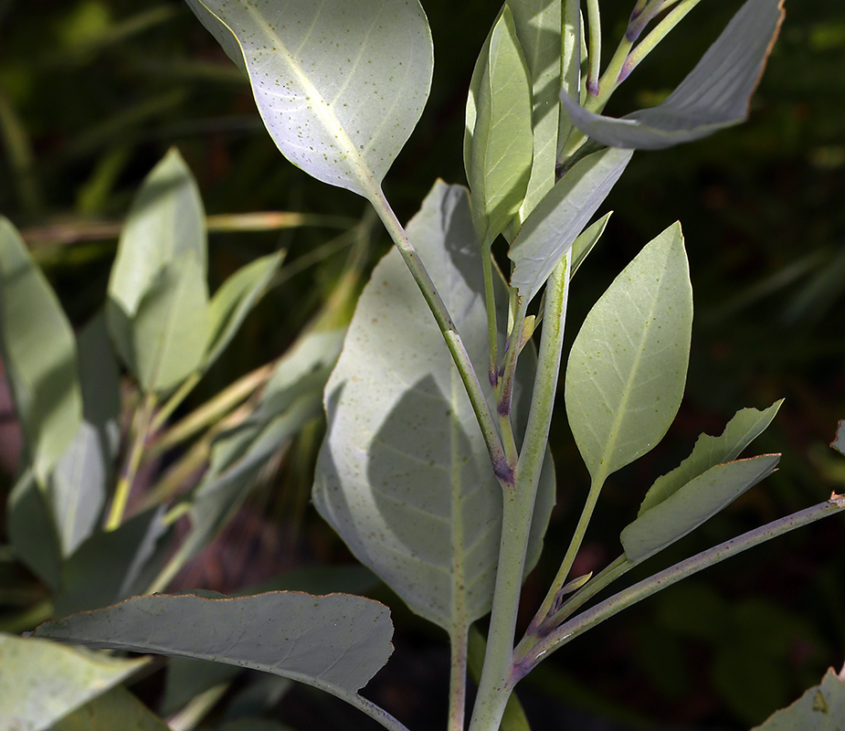
[[[629,561],[642,561],[671,545],[766,479],[779,460],[779,454],[764,454],[717,464],[687,482],[622,531],[625,556]]]

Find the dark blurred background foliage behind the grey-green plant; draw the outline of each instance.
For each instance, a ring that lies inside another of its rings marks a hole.
[[[436,177],[464,182],[466,92],[499,9],[497,0],[423,5],[435,41],[433,89],[386,180],[404,220]],[[602,0],[608,48],[615,47],[631,5]],[[738,6],[702,2],[628,79],[608,111],[623,114],[660,101]],[[843,70],[845,5],[787,3],[750,121],[700,143],[635,155],[608,199],[615,214],[576,277],[570,333],[618,270],[679,218],[696,319],[679,418],[658,449],[608,482],[577,573],[618,555],[618,533],[654,478],[681,461],[699,433],[720,433],[738,408],[765,408],[786,397],[759,444],[784,452],[780,471],[660,561],[668,565],[825,500],[831,490],[843,492],[845,462],[827,446],[837,420],[845,418]],[[336,287],[352,226],[366,216],[364,202],[317,183],[278,154],[246,79],[177,0],[0,0],[0,212],[22,230],[73,323],[84,323],[103,302],[116,246],[116,229],[108,224],[121,220],[143,175],[171,145],[196,175],[209,215],[309,215],[307,225],[295,228],[212,234],[213,289],[259,255],[289,253],[279,286],[197,388],[190,408],[296,338]],[[362,282],[389,244],[380,228],[372,231]],[[6,484],[17,449],[9,408],[6,403],[0,423]],[[530,613],[586,495],[586,471],[558,411],[558,505],[544,561],[526,588]],[[321,438],[320,424],[305,429],[273,480],[179,579],[183,587],[230,591],[281,569],[348,560],[308,503]],[[523,683],[529,717],[545,729],[565,728],[573,718],[583,723],[581,714],[623,726],[762,722],[845,658],[843,528],[835,517],[787,535],[602,625]],[[37,598],[34,581],[8,556],[0,571],[6,607]],[[403,628],[397,656],[375,687],[377,700],[400,717],[430,715],[439,726],[445,700],[442,708],[431,704],[428,688],[445,688],[445,638],[386,590],[376,595],[391,604]],[[153,683],[149,693],[155,692]],[[303,698],[310,717],[334,718],[322,698],[307,692]]]

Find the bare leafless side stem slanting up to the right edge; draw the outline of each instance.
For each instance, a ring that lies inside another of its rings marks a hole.
[[[578,635],[583,634],[586,630],[590,630],[597,624],[604,620],[613,617],[622,609],[626,609],[633,604],[636,604],[652,594],[656,594],[661,589],[671,587],[681,579],[691,577],[698,573],[702,568],[707,568],[724,561],[725,558],[735,556],[748,548],[764,543],[776,535],[783,535],[789,531],[800,528],[810,523],[815,523],[821,518],[827,517],[834,513],[840,513],[845,510],[845,501],[831,499],[825,503],[819,503],[800,513],[787,515],[785,518],[773,521],[753,531],[748,531],[743,535],[738,535],[730,541],[725,541],[719,546],[713,546],[702,553],[687,558],[681,561],[680,564],[675,564],[663,571],[660,571],[654,576],[628,587],[618,594],[605,599],[595,607],[587,609],[577,617],[551,632],[543,641],[538,642],[530,652],[524,657],[517,658],[519,668],[517,674],[520,678],[529,673],[532,668],[541,660],[541,658],[548,652],[554,652],[558,648],[565,645],[567,642],[574,640]]]

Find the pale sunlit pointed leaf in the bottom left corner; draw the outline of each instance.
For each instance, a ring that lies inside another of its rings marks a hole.
[[[47,729],[146,662],[0,634],[0,727]]]

